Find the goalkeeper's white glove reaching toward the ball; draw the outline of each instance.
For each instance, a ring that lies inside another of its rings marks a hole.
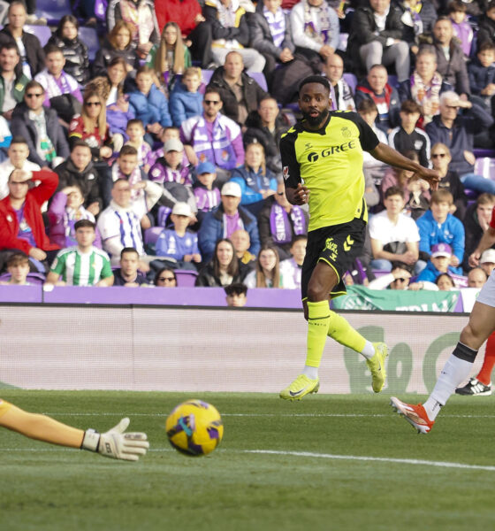
[[[81,448],[97,451],[105,458],[137,461],[149,448],[148,437],[141,432],[125,433],[129,422],[127,418],[122,419],[116,427],[112,427],[104,434],[88,429]]]

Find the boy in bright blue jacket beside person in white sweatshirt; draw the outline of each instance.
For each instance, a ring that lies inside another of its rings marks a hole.
[[[452,205],[453,196],[448,190],[436,190],[431,194],[430,210],[416,220],[420,235],[420,261],[430,257],[432,248],[437,243],[448,243],[452,250],[450,271],[462,274],[460,265],[464,258],[464,227],[450,213]]]

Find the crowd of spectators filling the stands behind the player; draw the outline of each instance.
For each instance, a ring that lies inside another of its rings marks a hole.
[[[286,199],[278,141],[313,73],[334,110],[442,175],[431,192],[365,153],[369,234],[347,283],[486,278],[469,257],[495,206],[475,157],[495,147],[495,1],[110,0],[104,20],[84,6],[44,47],[21,0],[0,31],[3,283],[174,287],[187,270],[236,301],[243,283],[297,289],[308,212]],[[93,61],[80,24],[98,29]]]

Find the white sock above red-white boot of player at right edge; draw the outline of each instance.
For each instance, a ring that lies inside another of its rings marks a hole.
[[[431,391],[430,397],[423,404],[430,420],[435,420],[440,408],[446,404],[455,389],[459,387],[459,384],[468,378],[472,370],[473,362],[457,358],[457,356],[451,354],[438,376],[437,383]]]

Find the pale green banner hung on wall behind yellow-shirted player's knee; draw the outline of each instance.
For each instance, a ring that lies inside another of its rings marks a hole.
[[[338,310],[387,310],[398,312],[453,312],[458,291],[403,291],[349,286],[347,295],[332,300]]]

